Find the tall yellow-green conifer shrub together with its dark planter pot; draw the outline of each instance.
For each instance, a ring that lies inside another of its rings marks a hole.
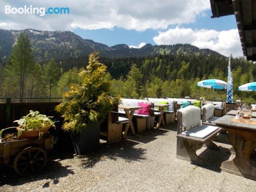
[[[86,70],[79,73],[82,84],[71,84],[56,106],[62,114],[62,129],[70,131],[77,154],[94,151],[99,146],[100,122],[119,102],[112,98],[110,81],[106,80],[106,66],[98,61],[98,52],[89,56]]]

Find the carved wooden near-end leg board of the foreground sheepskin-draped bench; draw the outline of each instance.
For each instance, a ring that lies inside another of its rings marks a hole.
[[[203,143],[177,137],[176,157],[194,164],[203,164],[202,159],[196,153],[202,146]]]

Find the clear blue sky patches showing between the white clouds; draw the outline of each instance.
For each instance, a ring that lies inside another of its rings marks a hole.
[[[237,29],[237,23],[234,15],[229,15],[219,18],[211,18],[211,10],[208,10],[204,16],[198,15],[196,22],[190,24],[182,24],[180,27],[191,29],[214,29],[217,31]],[[176,28],[177,25],[169,25],[168,29]],[[139,45],[141,42],[156,45],[153,37],[158,35],[159,30],[147,29],[143,32],[136,30],[126,30],[119,27],[114,29],[97,29],[97,30],[84,30],[75,29],[74,33],[82,38],[92,39],[96,42],[108,46],[117,44],[126,45]]]

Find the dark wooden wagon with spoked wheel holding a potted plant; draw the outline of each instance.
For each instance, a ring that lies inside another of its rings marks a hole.
[[[53,149],[53,136],[0,142],[0,164],[11,166],[19,175],[40,172],[47,163],[46,151]]]

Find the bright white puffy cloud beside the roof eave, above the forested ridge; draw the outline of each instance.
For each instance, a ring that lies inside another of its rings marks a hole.
[[[165,32],[159,32],[153,40],[157,45],[191,44],[201,49],[208,48],[217,51],[225,56],[231,53],[235,57],[243,56],[237,29],[216,31],[176,27]]]

